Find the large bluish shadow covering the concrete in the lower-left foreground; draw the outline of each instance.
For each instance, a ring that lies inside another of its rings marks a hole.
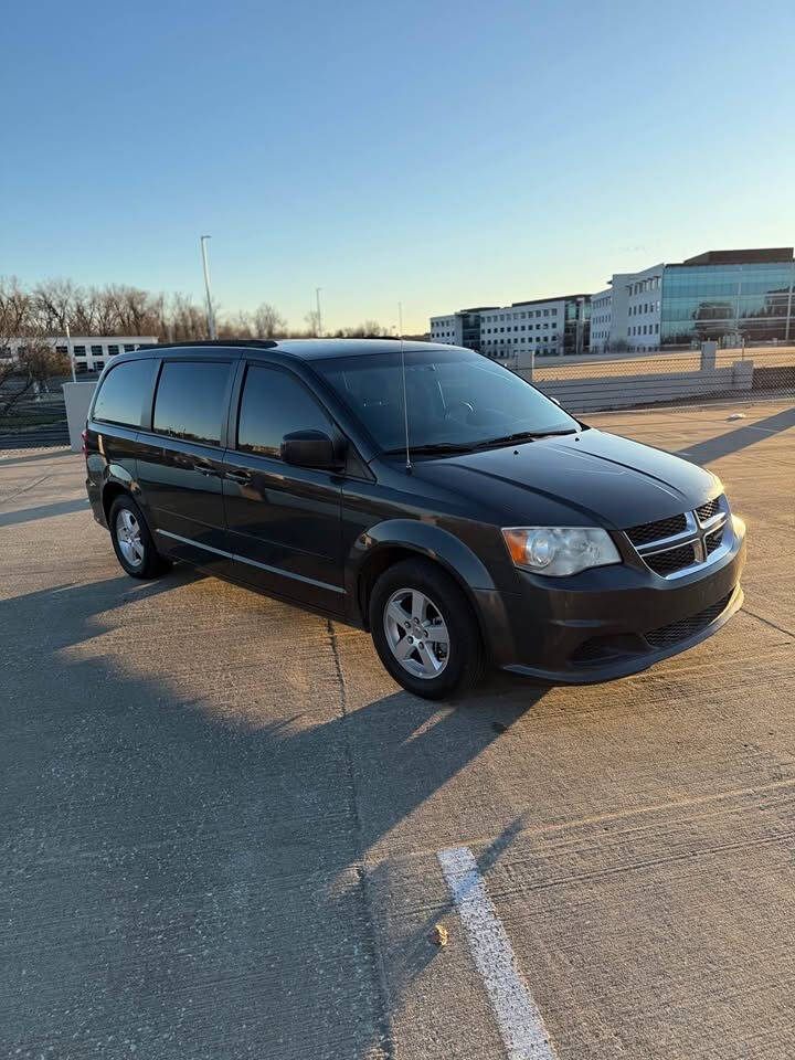
[[[418,931],[382,998],[368,850],[543,696],[500,678],[486,706],[395,692],[322,718],[277,698],[246,724],[214,710],[234,679],[214,642],[194,653],[206,695],[180,687],[179,629],[149,633],[173,680],[126,665],[118,608],[200,577],[0,601],[3,1054],[380,1056],[436,950]]]

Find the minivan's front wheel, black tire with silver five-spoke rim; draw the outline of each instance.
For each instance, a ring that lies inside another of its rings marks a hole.
[[[370,596],[370,629],[384,667],[414,696],[464,692],[484,675],[486,654],[471,605],[430,560],[403,560],[383,572]]]

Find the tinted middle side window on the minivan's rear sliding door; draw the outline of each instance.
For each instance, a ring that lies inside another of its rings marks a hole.
[[[218,361],[167,361],[155,399],[155,430],[220,445],[230,369]]]

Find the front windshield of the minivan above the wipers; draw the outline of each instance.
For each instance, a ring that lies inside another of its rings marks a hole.
[[[409,441],[422,448],[475,448],[512,435],[558,434],[580,424],[529,383],[471,350],[406,350]],[[382,451],[405,447],[400,348],[318,359],[312,368]]]

